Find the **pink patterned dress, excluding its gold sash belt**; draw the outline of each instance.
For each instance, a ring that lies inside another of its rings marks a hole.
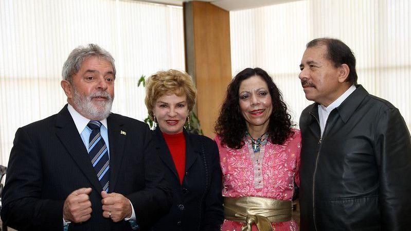
[[[294,180],[299,186],[301,134],[293,129],[294,135],[283,145],[270,141],[261,147],[258,158],[251,145],[241,149],[230,149],[221,145],[216,136],[223,171],[223,197],[264,197],[276,200],[292,200]],[[240,231],[244,223],[224,220],[222,231]],[[272,223],[276,231],[298,231],[294,220]],[[257,231],[253,225],[253,231]]]

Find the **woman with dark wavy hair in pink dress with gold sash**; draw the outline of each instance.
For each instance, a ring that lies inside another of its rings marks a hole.
[[[301,136],[272,78],[246,68],[231,81],[216,123],[223,171],[222,231],[298,230]]]

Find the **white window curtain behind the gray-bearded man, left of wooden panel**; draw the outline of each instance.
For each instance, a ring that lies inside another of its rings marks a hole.
[[[61,110],[61,69],[96,43],[116,60],[113,112],[147,116],[141,75],[184,70],[182,7],[119,0],[0,1],[0,164],[17,128]]]

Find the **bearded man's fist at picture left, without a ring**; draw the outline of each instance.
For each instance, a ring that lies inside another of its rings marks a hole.
[[[68,195],[63,206],[63,219],[66,222],[80,223],[90,219],[92,203],[88,194],[91,191],[92,188],[79,188]]]

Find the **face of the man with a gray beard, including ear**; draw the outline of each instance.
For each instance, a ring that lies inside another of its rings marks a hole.
[[[114,99],[114,72],[109,61],[97,56],[87,58],[73,76],[73,84],[64,81],[67,101],[82,116],[91,120],[109,116]]]

